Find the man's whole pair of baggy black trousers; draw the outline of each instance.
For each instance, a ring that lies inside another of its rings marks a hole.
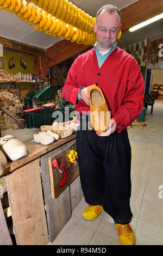
[[[131,148],[127,130],[100,137],[95,130],[77,131],[80,181],[85,201],[103,205],[115,223],[131,221]]]

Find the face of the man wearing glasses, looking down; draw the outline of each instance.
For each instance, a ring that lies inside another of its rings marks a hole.
[[[97,23],[94,24],[99,51],[107,51],[115,44],[120,31],[120,23],[121,18],[117,11],[110,14],[103,10],[99,14]]]

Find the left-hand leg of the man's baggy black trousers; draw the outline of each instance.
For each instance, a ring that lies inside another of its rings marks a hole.
[[[105,174],[95,135],[95,131],[77,131],[80,181],[85,201],[90,205],[100,205],[104,202]]]

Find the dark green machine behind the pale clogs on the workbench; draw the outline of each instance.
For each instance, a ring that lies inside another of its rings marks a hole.
[[[42,125],[52,125],[53,121],[71,120],[70,113],[74,111],[74,105],[68,101],[59,100],[58,89],[47,85],[39,92],[29,92],[23,100],[23,118],[27,120],[27,128],[40,128]],[[68,113],[67,113],[68,112]]]

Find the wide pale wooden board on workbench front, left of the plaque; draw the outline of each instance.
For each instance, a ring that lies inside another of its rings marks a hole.
[[[6,176],[17,245],[47,245],[39,159]]]

